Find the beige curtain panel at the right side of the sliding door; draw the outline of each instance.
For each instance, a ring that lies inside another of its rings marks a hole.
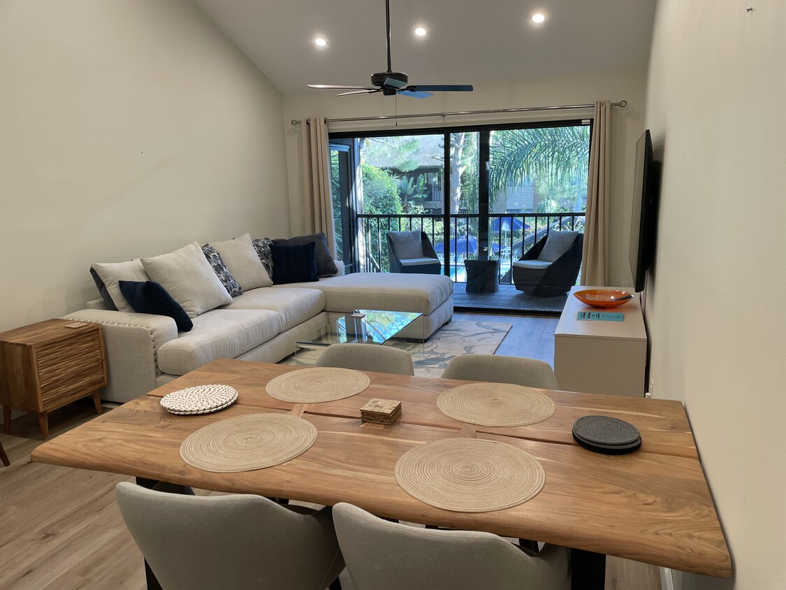
[[[612,186],[612,101],[595,102],[589,144],[582,285],[608,286],[608,208]]]

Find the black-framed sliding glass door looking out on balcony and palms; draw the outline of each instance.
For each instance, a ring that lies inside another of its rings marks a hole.
[[[549,230],[582,229],[589,131],[566,121],[331,134],[345,261],[387,272],[387,232],[424,230],[454,281],[465,282],[465,260],[490,259],[510,283],[512,262]]]

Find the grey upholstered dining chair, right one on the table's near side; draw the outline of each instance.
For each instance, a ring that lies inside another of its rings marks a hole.
[[[570,550],[530,555],[492,533],[387,522],[347,503],[333,507],[355,590],[565,590]]]

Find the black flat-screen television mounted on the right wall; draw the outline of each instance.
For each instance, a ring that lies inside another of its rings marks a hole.
[[[647,269],[652,264],[658,215],[658,179],[656,163],[652,159],[652,138],[649,130],[636,142],[635,173],[628,258],[634,277],[634,289],[638,293],[644,290]]]

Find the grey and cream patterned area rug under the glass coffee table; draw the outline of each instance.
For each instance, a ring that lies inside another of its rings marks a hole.
[[[425,346],[403,340],[391,340],[386,346],[409,352],[418,377],[439,377],[454,356],[494,354],[511,327],[509,323],[454,321],[432,334]],[[310,367],[320,354],[320,350],[302,349],[281,363]]]

